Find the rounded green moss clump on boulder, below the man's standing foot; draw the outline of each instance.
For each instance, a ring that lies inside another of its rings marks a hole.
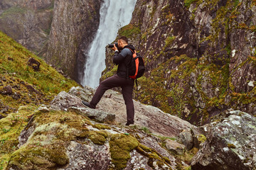
[[[110,153],[115,169],[124,169],[131,158],[129,152],[135,149],[139,142],[131,135],[115,134],[110,139]]]

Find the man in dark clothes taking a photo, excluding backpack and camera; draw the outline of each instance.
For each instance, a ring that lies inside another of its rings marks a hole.
[[[92,101],[90,101],[90,103],[82,101],[82,104],[89,108],[96,108],[97,103],[100,102],[100,98],[105,94],[105,91],[120,86],[122,88],[124,103],[127,108],[127,123],[125,125],[134,125],[134,103],[132,101],[134,79],[129,78],[128,76],[128,66],[132,61],[132,55],[135,48],[128,44],[128,40],[124,36],[119,38],[117,42],[121,52],[117,50],[115,45],[112,47],[112,50],[114,50],[113,62],[118,65],[117,74],[100,82],[100,86],[92,97]]]

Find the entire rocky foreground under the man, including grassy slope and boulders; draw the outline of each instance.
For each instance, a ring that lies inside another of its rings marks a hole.
[[[255,170],[252,115],[228,109],[196,127],[134,101],[135,125],[126,127],[122,94],[107,91],[96,109],[86,108],[81,99],[95,89],[1,32],[0,42],[0,169]]]

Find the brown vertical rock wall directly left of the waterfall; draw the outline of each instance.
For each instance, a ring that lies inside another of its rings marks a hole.
[[[84,52],[100,22],[100,2],[58,0],[54,4],[46,61],[75,80],[78,80],[78,69],[84,67]]]

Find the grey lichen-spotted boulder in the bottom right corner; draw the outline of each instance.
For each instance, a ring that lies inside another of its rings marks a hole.
[[[206,142],[193,157],[192,169],[255,169],[256,118],[242,111],[228,115],[203,127]]]

